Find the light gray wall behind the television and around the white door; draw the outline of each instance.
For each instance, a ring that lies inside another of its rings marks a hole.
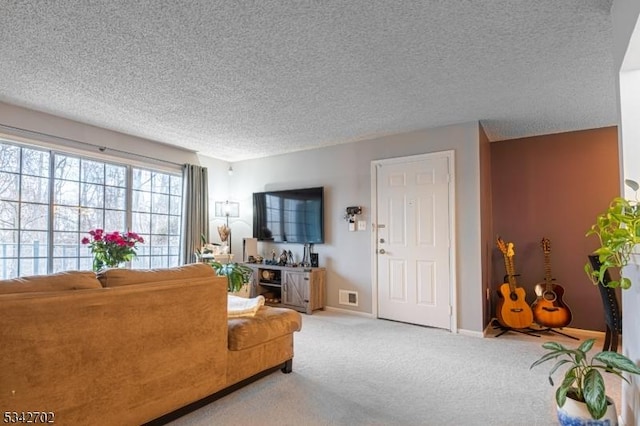
[[[315,251],[327,268],[327,305],[371,313],[371,161],[445,150],[454,150],[456,161],[458,327],[479,333],[484,324],[477,122],[234,163],[229,198],[240,202],[241,217],[230,221],[233,252],[241,256],[242,238],[252,236],[253,192],[324,186],[326,243]],[[353,205],[363,207],[365,232],[348,231],[343,217]],[[283,247],[302,258],[302,245],[259,244],[265,257]],[[339,289],[357,291],[359,306],[339,305]]]

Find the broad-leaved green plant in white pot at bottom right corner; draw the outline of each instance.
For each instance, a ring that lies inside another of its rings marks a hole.
[[[577,349],[568,349],[557,342],[544,343],[542,347],[548,352],[531,364],[530,368],[533,368],[550,360],[558,360],[549,372],[551,386],[554,386],[553,374],[560,367],[568,367],[555,395],[561,425],[587,424],[580,423],[580,419],[592,420],[588,424],[594,426],[618,424],[615,405],[606,394],[601,371],[615,374],[627,382],[623,372],[640,374],[640,367],[617,352],[602,351],[589,359],[587,352],[591,350],[594,342],[595,339],[585,340]],[[596,422],[598,419],[603,420],[601,423]],[[606,423],[607,421],[609,423]]]

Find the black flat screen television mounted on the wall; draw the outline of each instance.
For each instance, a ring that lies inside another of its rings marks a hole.
[[[274,243],[324,243],[324,188],[255,192],[253,237]]]

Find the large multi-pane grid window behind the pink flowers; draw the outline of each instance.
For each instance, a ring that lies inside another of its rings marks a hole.
[[[90,229],[131,230],[133,268],[179,263],[182,177],[0,139],[0,279],[91,269]]]

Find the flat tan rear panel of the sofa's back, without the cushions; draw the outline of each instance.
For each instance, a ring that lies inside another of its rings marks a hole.
[[[0,407],[141,424],[222,389],[226,278],[0,295]]]

